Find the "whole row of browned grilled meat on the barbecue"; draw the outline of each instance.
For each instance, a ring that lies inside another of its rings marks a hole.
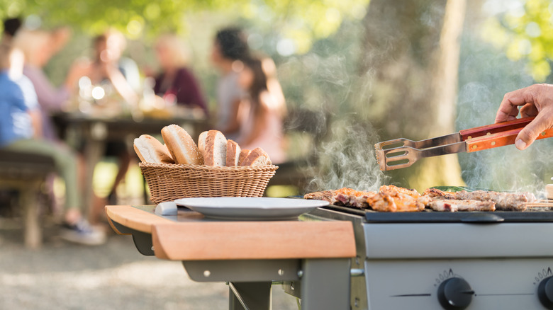
[[[416,212],[425,207],[440,212],[457,211],[524,211],[526,204],[535,202],[532,193],[500,193],[466,190],[445,192],[428,188],[420,195],[416,190],[395,185],[382,185],[378,192],[364,192],[352,188],[308,193],[305,199],[326,200],[332,205],[373,209],[380,212]]]

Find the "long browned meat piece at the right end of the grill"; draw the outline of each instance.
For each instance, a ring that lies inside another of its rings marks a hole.
[[[454,194],[458,200],[493,201],[498,211],[525,211],[528,202],[535,202],[536,197],[532,193],[499,193],[475,190],[467,192],[463,190]]]

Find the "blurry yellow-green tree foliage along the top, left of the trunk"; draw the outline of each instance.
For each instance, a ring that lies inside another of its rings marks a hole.
[[[36,16],[47,26],[70,25],[98,34],[118,28],[130,38],[185,33],[186,15],[220,11],[279,29],[293,51],[305,53],[314,40],[335,33],[347,18],[363,18],[369,0],[0,0],[0,17]]]

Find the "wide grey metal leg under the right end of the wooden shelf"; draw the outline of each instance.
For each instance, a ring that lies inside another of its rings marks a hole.
[[[302,310],[350,309],[350,258],[303,260]]]

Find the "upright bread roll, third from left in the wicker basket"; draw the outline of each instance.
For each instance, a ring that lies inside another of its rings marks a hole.
[[[200,134],[198,145],[207,166],[225,166],[227,161],[227,139],[218,130],[209,130]]]

